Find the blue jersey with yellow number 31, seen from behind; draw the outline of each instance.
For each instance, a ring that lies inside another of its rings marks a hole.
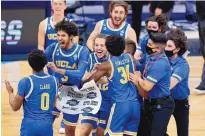
[[[113,102],[124,102],[137,99],[137,88],[129,81],[129,73],[134,73],[134,64],[129,54],[113,56],[109,60],[112,74],[109,85]]]

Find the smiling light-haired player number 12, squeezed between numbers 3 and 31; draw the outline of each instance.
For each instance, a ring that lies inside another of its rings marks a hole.
[[[99,34],[94,40],[94,53],[89,56],[88,72],[94,69],[95,64],[101,64],[109,60],[109,55],[105,46],[106,36]],[[76,136],[88,136],[92,129],[93,135],[97,128],[96,135],[104,136],[104,130],[108,121],[111,109],[111,97],[108,90],[107,77],[102,77],[97,82],[98,88],[102,94],[102,104],[97,114],[82,114],[80,117],[80,124],[76,128]]]

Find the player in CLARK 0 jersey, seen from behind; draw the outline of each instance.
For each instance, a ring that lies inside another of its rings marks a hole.
[[[29,54],[28,62],[33,74],[21,79],[16,96],[13,88],[6,81],[9,103],[13,111],[18,111],[23,104],[24,118],[21,123],[21,136],[52,136],[52,108],[58,89],[55,77],[43,72],[47,59],[40,50]]]

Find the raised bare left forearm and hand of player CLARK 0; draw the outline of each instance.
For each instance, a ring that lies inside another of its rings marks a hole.
[[[18,93],[14,96],[13,87],[10,85],[9,81],[5,81],[6,90],[9,93],[9,104],[13,111],[18,111],[21,108],[24,97]]]

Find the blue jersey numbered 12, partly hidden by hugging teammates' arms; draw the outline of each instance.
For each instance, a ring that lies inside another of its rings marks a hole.
[[[88,68],[88,71],[92,71],[93,68],[94,68],[94,65],[96,63],[103,63],[103,62],[106,62],[110,59],[110,57],[108,56],[107,58],[105,59],[99,59],[95,53],[91,53],[90,56],[89,56],[89,68]],[[103,78],[106,78],[106,76],[104,76]],[[99,81],[100,82],[100,81]],[[97,83],[98,85],[98,88],[100,89],[101,91],[101,95],[102,95],[102,104],[101,104],[101,111],[104,111],[104,110],[109,110],[111,109],[111,104],[110,104],[110,101],[111,101],[111,96],[110,96],[110,93],[109,93],[109,89],[108,89],[108,83]]]

